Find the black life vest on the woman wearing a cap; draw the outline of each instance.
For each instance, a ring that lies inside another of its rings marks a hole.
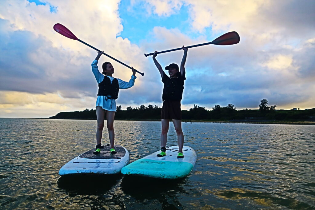
[[[162,82],[164,83],[162,99],[180,101],[183,96],[185,73],[182,76],[177,74],[177,78],[170,78],[165,73],[163,75]]]

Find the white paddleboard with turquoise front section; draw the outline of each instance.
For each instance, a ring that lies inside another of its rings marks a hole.
[[[169,146],[166,149],[178,151],[178,146]],[[166,156],[157,157],[161,151],[145,156],[123,167],[122,174],[147,176],[161,179],[180,179],[188,176],[194,167],[197,155],[189,146],[183,147],[184,158],[177,158],[177,153],[166,150]]]

